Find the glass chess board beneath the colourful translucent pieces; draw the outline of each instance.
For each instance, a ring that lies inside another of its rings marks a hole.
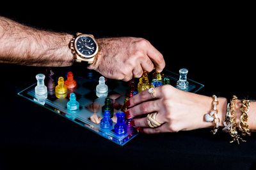
[[[127,132],[122,135],[116,134],[113,129],[106,131],[100,127],[100,120],[103,117],[101,108],[104,106],[106,97],[96,96],[96,86],[99,83],[100,75],[94,71],[90,72],[92,73],[86,73],[87,76],[76,76],[76,74],[74,74],[74,79],[77,81],[77,88],[73,92],[76,94],[76,99],[80,104],[79,110],[77,111],[67,110],[68,97],[58,99],[54,94],[50,94],[49,91],[47,99],[36,96],[36,83],[20,91],[18,94],[33,103],[39,104],[40,106],[57,113],[61,117],[65,117],[68,120],[99,134],[109,141],[113,141],[114,143],[123,146],[137,136],[138,132],[131,127],[131,125],[127,125]],[[176,83],[179,80],[179,74],[168,70],[164,70],[163,73],[164,77],[170,78],[170,84],[176,87]],[[150,74],[148,74],[148,78],[150,80]],[[55,82],[57,81],[55,80]],[[136,79],[135,82],[137,85],[138,79]],[[189,78],[188,82],[189,86],[188,89],[186,89],[188,92],[195,93],[204,87],[201,83],[190,80]],[[114,127],[116,124],[115,113],[120,111],[124,105],[125,94],[129,90],[129,85],[125,81],[111,79],[106,80],[106,85],[108,85],[108,97],[111,99],[114,106],[114,117],[112,118]]]

